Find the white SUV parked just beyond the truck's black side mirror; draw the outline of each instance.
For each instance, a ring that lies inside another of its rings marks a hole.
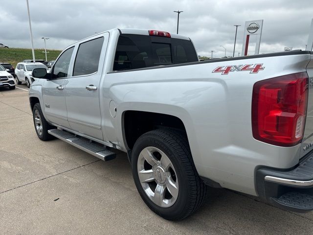
[[[15,69],[15,80],[18,85],[21,85],[22,82],[26,83],[26,86],[29,87],[30,84],[35,81],[31,76],[33,69],[43,68],[49,71],[49,69],[40,62],[35,63],[19,63]]]

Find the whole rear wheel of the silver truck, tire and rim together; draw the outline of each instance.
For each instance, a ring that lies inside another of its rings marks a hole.
[[[183,219],[204,201],[206,187],[187,139],[178,132],[154,130],[139,137],[132,153],[132,169],[141,198],[165,219]]]

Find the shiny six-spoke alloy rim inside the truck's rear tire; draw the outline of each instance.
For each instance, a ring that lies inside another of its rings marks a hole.
[[[179,194],[179,182],[170,159],[156,147],[144,148],[138,157],[137,172],[142,188],[157,206],[174,205]]]

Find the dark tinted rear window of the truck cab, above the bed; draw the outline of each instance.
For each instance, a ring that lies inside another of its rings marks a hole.
[[[196,61],[197,53],[190,40],[121,34],[117,42],[113,71]]]

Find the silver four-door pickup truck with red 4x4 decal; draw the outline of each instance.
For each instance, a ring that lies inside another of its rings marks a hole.
[[[313,210],[311,51],[199,62],[188,37],[112,29],[32,75],[38,137],[104,161],[127,152],[140,196],[166,219],[200,208],[207,186]]]

